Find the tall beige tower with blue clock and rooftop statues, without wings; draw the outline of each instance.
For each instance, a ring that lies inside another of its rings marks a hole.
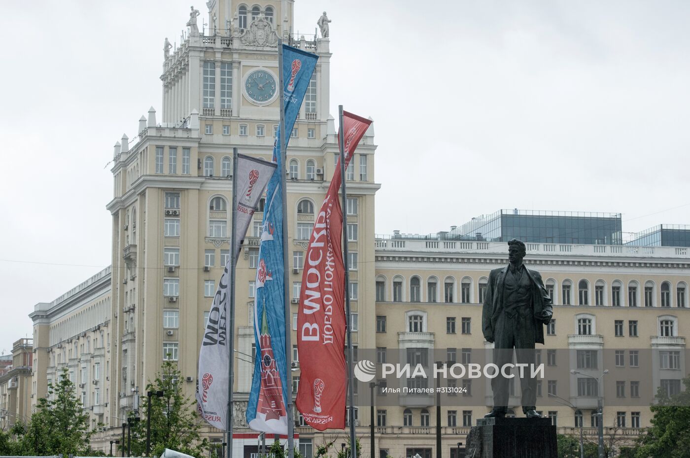
[[[338,154],[335,120],[329,113],[329,41],[320,35],[290,34],[292,0],[210,0],[206,5],[208,15],[190,10],[189,33],[179,46],[172,48],[166,39],[162,108],[150,108],[148,117],[141,117],[135,139],[123,136],[115,145],[114,196],[107,206],[112,213],[113,417],[125,418],[136,407],[136,393],[146,395],[146,384],[166,359],[177,361],[186,394],[195,392],[205,318],[229,257],[232,150],[237,147],[242,154],[264,159],[272,154],[279,119],[279,37],[319,56],[297,123],[289,132],[284,171],[290,247],[286,256],[291,266],[287,278],[296,342],[304,252]],[[315,20],[319,14],[315,12]],[[344,209],[354,341],[368,348],[375,347],[373,215],[374,195],[380,188],[374,181],[375,148],[370,128],[346,173]],[[262,217],[259,208],[237,266],[233,361],[240,431],[255,354],[253,297]],[[293,360],[296,392],[296,347]],[[111,419],[110,424],[118,426],[117,421]],[[210,428],[209,435],[222,437]]]

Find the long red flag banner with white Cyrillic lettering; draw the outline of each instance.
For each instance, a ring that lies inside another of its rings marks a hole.
[[[346,168],[370,124],[369,119],[343,112]],[[338,199],[341,178],[338,162],[306,251],[297,313],[301,373],[296,405],[304,421],[321,431],[345,428],[348,377],[344,354],[343,217]]]

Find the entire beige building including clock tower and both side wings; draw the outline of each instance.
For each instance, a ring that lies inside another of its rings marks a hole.
[[[304,254],[337,161],[336,121],[329,113],[329,39],[291,37],[290,0],[252,5],[212,0],[207,5],[210,30],[190,31],[178,48],[165,52],[159,112],[150,108],[139,119],[132,141],[124,135],[115,145],[113,198],[107,205],[112,215],[112,267],[51,303],[37,304],[30,315],[30,404],[46,395],[48,383],[57,379],[61,368],[68,368],[77,395],[92,412],[91,421],[106,426],[94,444],[106,452],[108,440],[119,437],[123,419],[137,408],[137,397],[146,396],[146,384],[155,379],[164,360],[177,361],[186,395],[193,397],[197,389],[204,324],[230,251],[233,148],[264,159],[272,154],[277,94],[253,97],[248,79],[262,72],[277,81],[277,37],[319,55],[290,132],[284,170],[293,344]],[[315,12],[315,19],[319,14]],[[359,357],[372,355],[380,364],[402,351],[427,362],[486,362],[491,346],[481,332],[483,288],[489,271],[506,264],[507,246],[444,237],[376,236],[375,193],[380,185],[374,175],[373,135],[372,127],[346,172],[345,230],[355,314],[351,324]],[[243,437],[235,445],[235,455],[246,458],[252,458],[257,443],[246,428],[244,410],[255,355],[253,298],[262,218],[259,208],[244,237],[235,292],[234,399],[240,414],[235,432]],[[555,303],[555,321],[540,356],[547,378],[542,380],[538,409],[554,419],[559,432],[578,434],[582,424],[586,435],[595,435],[592,412],[598,395],[591,384],[578,380],[582,376],[570,372],[579,366],[569,355],[589,355],[595,368],[590,362],[588,368],[580,368],[583,372],[598,377],[609,370],[596,388],[606,399],[607,435],[633,439],[649,425],[650,412],[633,399],[631,390],[636,389],[640,398],[653,395],[656,386],[673,391],[687,373],[687,249],[528,243],[525,262],[542,272]],[[651,378],[629,379],[628,373],[618,372],[617,363],[627,361],[626,370],[642,372],[639,361],[646,361],[645,353],[638,353],[637,366],[629,367],[631,350],[636,349],[649,351],[652,363],[659,362],[653,360],[652,349],[666,352],[673,368],[667,364]],[[296,349],[291,356],[296,392]],[[381,377],[378,382],[384,381]],[[619,381],[626,382],[622,397],[617,396]],[[631,381],[640,383],[633,388]],[[407,383],[386,380],[388,387]],[[454,383],[469,392],[442,398],[442,455],[451,457],[457,456],[457,443],[464,443],[470,426],[491,406],[486,379],[466,383],[461,378]],[[435,396],[384,397],[380,388],[373,403],[375,455],[435,455]],[[355,424],[363,455],[369,457],[371,402],[365,391],[357,394]],[[555,397],[572,407],[558,404]],[[519,387],[511,392],[511,408],[521,415]],[[318,433],[304,426],[297,412],[295,425],[299,448],[307,457],[326,438],[335,437],[337,448],[346,442],[345,431]],[[212,441],[224,440],[223,432],[214,428],[205,428],[204,434]]]

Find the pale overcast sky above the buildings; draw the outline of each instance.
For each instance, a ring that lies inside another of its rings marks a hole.
[[[106,164],[160,112],[163,41],[179,43],[190,1],[3,5],[7,352],[37,302],[110,264]],[[331,112],[375,121],[377,233],[500,208],[621,212],[625,232],[690,223],[689,2],[296,0],[295,30],[324,9]]]

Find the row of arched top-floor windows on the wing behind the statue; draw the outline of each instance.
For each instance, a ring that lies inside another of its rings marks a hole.
[[[395,275],[392,281],[392,290],[388,290],[386,277],[379,275],[376,277],[376,300],[377,301],[387,301],[388,297],[391,297],[393,302],[421,302],[422,298],[422,279],[414,275],[409,279],[409,289],[407,290],[404,286],[405,279],[402,275]],[[426,302],[439,302],[443,299],[445,303],[453,303],[457,301],[456,297],[456,280],[455,277],[446,277],[443,281],[442,288],[440,290],[439,286],[440,280],[435,277],[428,277],[426,280]],[[477,300],[474,301],[474,291],[473,291],[473,280],[470,277],[464,277],[460,281],[460,303],[483,303],[486,297],[486,288],[488,286],[489,279],[482,277],[479,279],[479,285],[477,288]],[[630,281],[628,283],[628,295],[627,295],[627,306],[637,307],[639,302],[638,297],[638,285],[637,281]],[[556,297],[556,281],[554,279],[547,279],[545,283],[546,291],[549,292],[551,300],[556,303],[558,297]],[[603,280],[597,280],[594,286],[594,302],[595,306],[607,306],[607,294],[605,291],[606,283]],[[564,306],[573,305],[572,299],[572,289],[573,283],[571,280],[564,280],[561,284],[561,304]],[[661,307],[671,307],[673,306],[673,295],[671,295],[671,283],[669,281],[662,281],[660,287],[660,303]],[[578,282],[578,305],[589,306],[591,305],[590,300],[590,287],[589,281],[582,279]],[[687,283],[684,281],[678,282],[676,285],[676,303],[677,307],[687,307]],[[442,294],[442,295],[441,295]],[[655,283],[653,281],[647,281],[644,283],[644,306],[654,307],[655,304]],[[622,282],[620,280],[615,280],[611,283],[611,297],[610,305],[614,307],[620,307],[623,305],[622,297]]]

